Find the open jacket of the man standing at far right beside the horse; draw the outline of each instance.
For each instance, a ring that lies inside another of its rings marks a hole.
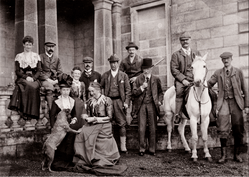
[[[234,98],[241,110],[249,107],[248,91],[245,84],[243,72],[235,67],[232,67],[231,84],[233,86]],[[218,83],[218,100],[217,110],[219,111],[224,100],[225,93],[225,68],[216,70],[211,78],[208,80],[208,87],[211,88]]]

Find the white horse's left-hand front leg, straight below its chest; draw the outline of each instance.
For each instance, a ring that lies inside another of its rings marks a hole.
[[[197,134],[197,118],[194,116],[190,117],[190,129],[191,129],[191,133],[192,133],[192,159],[194,162],[197,161],[197,150],[196,150],[196,146],[197,146],[197,141],[198,141],[198,134]]]

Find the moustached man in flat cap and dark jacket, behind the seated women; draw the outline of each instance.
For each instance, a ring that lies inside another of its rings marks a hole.
[[[85,57],[83,58],[84,71],[81,74],[80,81],[85,84],[86,100],[90,98],[90,93],[88,90],[90,82],[100,83],[101,74],[93,70],[93,58]]]

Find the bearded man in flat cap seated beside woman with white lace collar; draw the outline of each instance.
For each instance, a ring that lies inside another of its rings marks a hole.
[[[55,86],[58,85],[58,77],[63,74],[60,59],[54,55],[55,46],[56,44],[52,41],[45,42],[45,53],[40,54],[42,63],[40,80],[42,86],[45,88],[49,110],[52,107],[54,99],[53,92],[55,91]]]

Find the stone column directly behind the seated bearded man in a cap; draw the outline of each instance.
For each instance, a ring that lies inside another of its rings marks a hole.
[[[38,0],[39,53],[44,53],[44,42],[56,43],[54,54],[58,56],[58,27],[56,0]]]

